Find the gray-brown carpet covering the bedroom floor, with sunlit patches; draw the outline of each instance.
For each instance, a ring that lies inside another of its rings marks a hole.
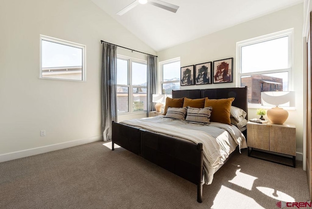
[[[235,151],[203,186],[196,186],[123,148],[103,142],[0,163],[1,209],[276,209],[306,202],[301,162],[286,167]]]

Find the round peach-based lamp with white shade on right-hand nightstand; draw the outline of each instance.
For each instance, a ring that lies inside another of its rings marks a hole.
[[[288,111],[279,107],[282,106],[295,106],[295,92],[294,91],[264,91],[261,92],[261,105],[272,106],[268,109],[267,116],[272,124],[282,125],[288,118]]]

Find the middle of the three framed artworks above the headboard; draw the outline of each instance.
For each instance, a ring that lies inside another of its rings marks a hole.
[[[211,84],[212,62],[195,65],[195,84]]]

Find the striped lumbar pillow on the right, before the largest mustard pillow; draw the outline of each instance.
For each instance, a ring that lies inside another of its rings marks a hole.
[[[212,107],[205,108],[187,108],[186,121],[191,123],[210,124],[210,115]]]

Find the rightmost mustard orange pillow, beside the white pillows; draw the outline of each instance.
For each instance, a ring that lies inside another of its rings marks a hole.
[[[213,108],[210,116],[210,121],[231,125],[230,109],[234,99],[235,98],[210,100],[207,98],[205,100],[205,107],[211,106]]]

